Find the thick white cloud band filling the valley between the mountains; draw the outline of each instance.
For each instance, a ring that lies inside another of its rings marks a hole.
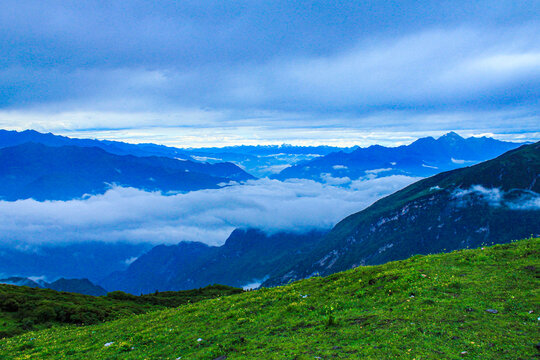
[[[237,227],[268,232],[330,228],[415,180],[390,176],[335,187],[310,180],[262,179],[172,196],[113,188],[86,200],[0,201],[0,233],[4,243],[19,247],[85,241],[174,244],[184,240],[219,245]]]

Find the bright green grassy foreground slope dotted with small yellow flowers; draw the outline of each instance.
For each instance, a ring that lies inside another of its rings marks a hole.
[[[531,238],[415,256],[27,333],[1,340],[0,359],[530,359],[538,353],[539,254],[540,239]]]

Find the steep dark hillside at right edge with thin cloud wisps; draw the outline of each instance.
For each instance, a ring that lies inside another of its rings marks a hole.
[[[540,143],[418,181],[339,222],[263,285],[540,234]]]

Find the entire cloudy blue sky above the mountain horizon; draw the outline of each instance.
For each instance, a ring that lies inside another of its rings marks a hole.
[[[540,1],[0,2],[0,128],[201,147],[540,140]]]

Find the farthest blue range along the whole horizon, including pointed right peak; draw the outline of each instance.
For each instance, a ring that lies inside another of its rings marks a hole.
[[[156,144],[77,139],[43,134],[35,130],[0,130],[0,148],[39,143],[49,147],[100,148],[114,155],[166,157],[207,164],[234,163],[256,177],[278,180],[311,179],[347,183],[363,177],[396,174],[431,176],[492,159],[518,147],[519,143],[487,137],[462,138],[450,132],[438,139],[425,137],[410,145],[367,148],[333,146],[257,145],[209,148],[175,148]],[[224,176],[224,174],[221,174]],[[228,177],[228,176],[225,176]]]

